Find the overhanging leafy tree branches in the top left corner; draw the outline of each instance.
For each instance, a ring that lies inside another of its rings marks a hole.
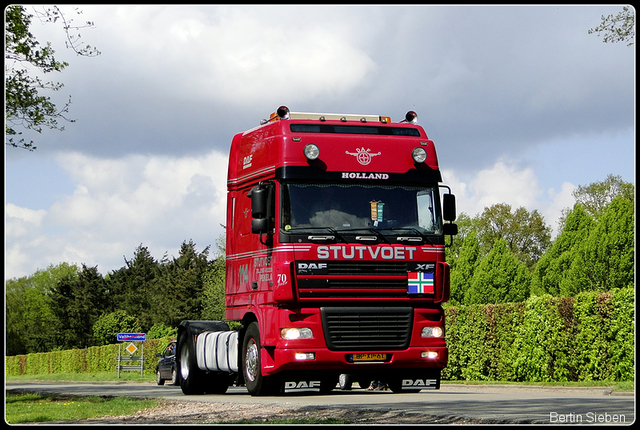
[[[76,12],[82,13],[77,9]],[[60,20],[67,36],[67,47],[76,54],[82,56],[100,54],[89,45],[81,48],[79,34],[72,35],[70,33],[93,26],[92,22],[87,21],[83,26],[73,26],[73,20],[67,20],[57,6],[43,9],[42,12],[38,12],[38,17],[43,22]],[[55,59],[55,51],[50,42],[42,46],[35,39],[29,31],[31,18],[33,15],[27,14],[23,6],[11,5],[5,10],[5,143],[9,146],[33,151],[36,149],[33,146],[33,141],[14,140],[15,136],[22,134],[16,130],[17,127],[42,133],[43,128],[64,130],[64,127],[59,125],[59,120],[69,122],[74,122],[74,120],[66,117],[71,97],[62,108],[58,108],[50,97],[40,94],[40,90],[58,91],[63,87],[63,84],[43,82],[34,74],[35,71],[42,74],[54,71],[61,72],[69,64]]]

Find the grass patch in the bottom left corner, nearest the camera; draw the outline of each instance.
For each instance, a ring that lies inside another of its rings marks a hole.
[[[157,399],[7,393],[5,419],[9,424],[72,421],[106,415],[129,415],[157,405]]]

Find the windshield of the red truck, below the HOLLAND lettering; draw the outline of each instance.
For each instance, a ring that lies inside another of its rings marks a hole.
[[[379,229],[384,234],[440,234],[437,187],[360,184],[284,184],[285,231]],[[397,229],[397,230],[395,230]]]

